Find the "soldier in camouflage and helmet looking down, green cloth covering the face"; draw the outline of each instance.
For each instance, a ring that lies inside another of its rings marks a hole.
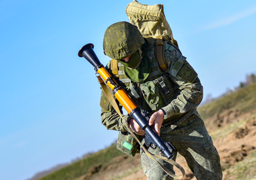
[[[209,136],[197,106],[203,98],[203,87],[197,73],[171,41],[165,45],[164,56],[168,72],[164,73],[155,57],[155,41],[143,38],[128,22],[110,25],[104,35],[104,53],[118,61],[118,84],[134,99],[138,107],[151,115],[149,125],[165,142],[169,141],[198,180],[220,180],[220,157]],[[111,61],[106,66],[111,71]],[[101,95],[101,120],[107,129],[126,132],[127,127],[111,104]],[[122,107],[120,107],[122,108]],[[138,135],[145,132],[129,115],[123,115],[129,127]],[[157,154],[159,149],[149,147]],[[148,180],[172,179],[162,168],[140,150],[141,162]],[[161,159],[168,169],[172,165]],[[172,170],[173,171],[173,170]]]

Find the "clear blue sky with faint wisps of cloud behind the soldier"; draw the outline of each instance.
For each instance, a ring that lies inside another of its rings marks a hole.
[[[25,180],[110,145],[100,121],[94,68],[79,49],[94,44],[103,64],[106,28],[128,21],[131,0],[0,0],[0,180]],[[254,0],[140,0],[163,4],[174,39],[217,97],[256,72]]]

